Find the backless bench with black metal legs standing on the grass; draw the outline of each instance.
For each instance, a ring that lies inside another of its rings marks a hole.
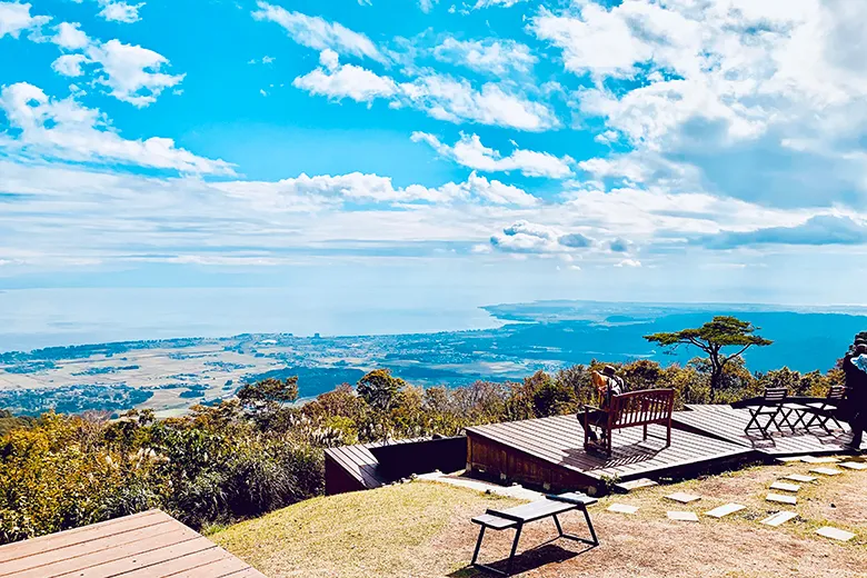
[[[596,498],[591,498],[584,494],[568,492],[559,496],[549,495],[545,499],[516,506],[506,510],[488,509],[484,515],[472,518],[474,524],[478,524],[479,539],[476,541],[476,550],[472,552],[471,566],[480,568],[500,576],[511,576],[512,564],[515,561],[515,554],[518,550],[518,541],[521,537],[521,530],[525,524],[542,520],[546,518],[552,518],[554,525],[557,528],[557,538],[566,538],[567,540],[579,541],[589,544],[590,546],[599,546],[599,540],[596,537],[596,530],[594,529],[592,521],[590,521],[590,515],[587,511],[587,506],[596,504]],[[558,518],[559,515],[567,511],[580,510],[584,512],[584,518],[587,521],[587,528],[590,530],[590,538],[581,538],[579,536],[567,534],[562,530],[562,525]],[[495,531],[501,531],[507,529],[515,529],[515,540],[511,545],[511,554],[509,554],[506,570],[499,570],[488,565],[480,564],[479,550],[481,549],[481,542],[485,539],[485,530],[490,528]]]

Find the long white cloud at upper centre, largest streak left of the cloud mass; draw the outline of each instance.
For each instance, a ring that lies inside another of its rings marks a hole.
[[[477,122],[539,131],[559,126],[554,111],[500,84],[476,90],[467,80],[426,74],[411,82],[396,82],[361,67],[339,64],[333,51],[322,51],[320,67],[298,77],[293,84],[313,94],[358,102],[387,99],[391,107],[412,107],[454,123]]]

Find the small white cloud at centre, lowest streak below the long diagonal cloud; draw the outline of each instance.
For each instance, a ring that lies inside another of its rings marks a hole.
[[[461,133],[460,140],[454,147],[444,144],[434,134],[413,132],[413,142],[427,142],[442,157],[455,160],[458,165],[485,172],[520,171],[527,177],[548,177],[564,179],[572,176],[570,157],[555,157],[548,152],[516,149],[508,157],[485,147],[477,134]]]

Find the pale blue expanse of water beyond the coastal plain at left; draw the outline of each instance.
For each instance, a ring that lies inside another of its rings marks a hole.
[[[293,288],[0,291],[0,351],[173,337],[391,335],[499,325],[477,305],[436,302],[420,293],[367,293],[350,301],[332,291]]]

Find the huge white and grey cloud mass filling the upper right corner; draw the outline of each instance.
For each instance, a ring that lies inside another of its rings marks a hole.
[[[576,113],[602,121],[600,141],[641,152],[635,162],[654,153],[707,190],[766,205],[857,208],[865,23],[867,3],[849,0],[587,0],[542,8],[528,29],[585,82]]]

